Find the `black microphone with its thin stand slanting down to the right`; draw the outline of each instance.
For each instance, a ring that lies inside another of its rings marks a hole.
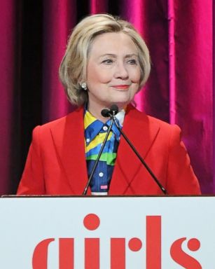
[[[108,112],[107,112],[108,111]],[[151,174],[151,177],[153,178],[153,180],[155,181],[155,183],[158,185],[158,187],[160,188],[160,190],[162,191],[162,193],[164,193],[165,195],[167,195],[167,190],[165,189],[164,186],[162,186],[162,184],[160,183],[160,181],[157,179],[157,177],[155,177],[155,174],[153,174],[152,170],[150,169],[150,167],[148,167],[148,165],[146,164],[146,162],[144,161],[143,158],[141,158],[141,156],[139,155],[139,152],[137,151],[137,149],[134,148],[134,145],[132,144],[132,142],[130,142],[130,139],[127,138],[127,136],[125,135],[125,133],[123,132],[123,130],[121,130],[120,126],[118,125],[118,122],[116,120],[116,113],[118,113],[118,106],[116,104],[113,104],[110,109],[106,109],[106,114],[109,115],[109,117],[112,119],[117,127],[117,129],[119,130],[120,134],[123,135],[125,141],[127,142],[127,144],[129,144],[130,148],[132,149],[132,151],[134,151],[134,153],[136,154],[137,158],[139,158],[139,160],[141,161],[141,163],[144,165],[144,167],[146,168],[146,170],[148,171],[149,174]],[[106,116],[108,117],[108,116]]]

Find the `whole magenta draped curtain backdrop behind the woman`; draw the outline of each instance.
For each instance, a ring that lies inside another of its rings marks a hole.
[[[202,193],[215,194],[213,1],[31,2],[0,4],[0,194],[16,191],[33,127],[74,109],[58,67],[71,29],[95,13],[129,20],[146,40],[152,70],[137,108],[181,127]]]

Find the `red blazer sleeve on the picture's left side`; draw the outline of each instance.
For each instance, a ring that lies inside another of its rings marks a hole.
[[[25,169],[18,186],[18,195],[46,193],[41,160],[40,129],[41,126],[37,126],[33,130],[32,144],[29,147]]]

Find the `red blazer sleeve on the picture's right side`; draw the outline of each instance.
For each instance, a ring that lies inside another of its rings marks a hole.
[[[181,141],[181,129],[172,126],[169,139],[167,190],[170,194],[200,195],[200,185],[190,165],[186,147]]]

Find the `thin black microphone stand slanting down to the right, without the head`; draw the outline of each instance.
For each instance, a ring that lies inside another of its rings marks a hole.
[[[117,129],[120,131],[120,134],[123,135],[125,141],[127,142],[127,144],[129,144],[129,146],[132,148],[132,150],[134,151],[134,153],[136,154],[136,156],[139,158],[139,160],[141,161],[141,163],[144,165],[144,167],[146,167],[146,170],[148,171],[149,174],[151,174],[151,177],[154,179],[154,181],[156,182],[156,184],[158,184],[160,190],[162,191],[162,193],[164,193],[165,195],[167,195],[167,190],[165,189],[164,186],[162,186],[162,184],[160,184],[160,181],[158,181],[158,179],[155,177],[155,175],[153,174],[153,172],[151,171],[151,169],[148,167],[148,165],[146,164],[146,162],[144,161],[143,158],[141,158],[141,156],[139,155],[137,149],[134,148],[134,146],[132,145],[132,143],[130,142],[130,140],[127,138],[127,136],[125,135],[125,133],[123,132],[123,130],[121,130],[120,126],[118,125],[118,122],[116,120],[116,116],[115,116],[115,111],[111,111],[112,113],[109,113],[109,116],[111,119],[113,119],[114,123],[116,124]]]

